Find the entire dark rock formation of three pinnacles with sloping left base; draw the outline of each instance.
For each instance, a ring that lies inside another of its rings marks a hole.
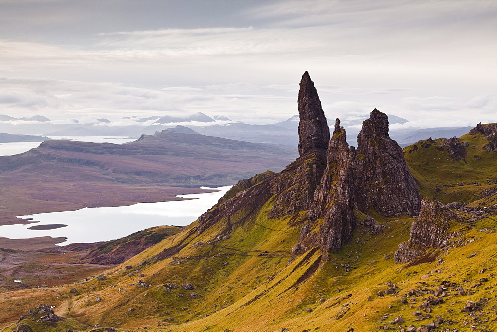
[[[352,239],[354,209],[376,210],[387,217],[418,214],[419,193],[399,145],[388,136],[386,114],[371,112],[355,151],[338,119],[330,139],[307,72],[300,82],[298,109],[300,157],[280,173],[239,182],[198,219],[198,234],[222,224],[220,235],[226,236],[255,220],[267,204],[268,219],[292,216],[292,225],[302,225],[293,257],[313,248],[327,257]]]

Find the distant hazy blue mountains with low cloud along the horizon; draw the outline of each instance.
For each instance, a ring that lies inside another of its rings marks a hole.
[[[348,133],[348,143],[356,145],[356,137],[362,122],[368,115],[343,120],[342,125]],[[388,115],[389,123],[405,124],[407,119],[395,115]],[[15,124],[12,121],[17,121]],[[194,113],[185,116],[128,116],[127,124],[115,125],[112,121],[100,118],[95,123],[83,124],[72,119],[67,123],[52,122],[50,119],[35,115],[32,117],[14,118],[8,115],[0,115],[0,132],[9,134],[44,133],[44,136],[125,136],[140,137],[142,134],[153,135],[165,129],[174,128],[177,125],[188,127],[193,132],[252,143],[264,143],[288,147],[296,147],[298,142],[297,129],[299,116],[294,115],[289,119],[274,124],[254,125],[243,122],[233,122],[222,115],[210,117],[204,113]],[[129,121],[131,120],[131,121]],[[19,123],[24,121],[26,123]],[[33,123],[32,121],[36,121]],[[333,123],[328,123],[332,127]],[[407,128],[390,131],[390,136],[401,146],[408,146],[419,140],[429,137],[435,139],[440,137],[461,136],[472,127],[434,127],[434,128]],[[184,129],[182,129],[184,131]],[[19,140],[20,137],[17,137]],[[13,137],[12,139],[16,139]],[[40,140],[40,139],[36,139]]]

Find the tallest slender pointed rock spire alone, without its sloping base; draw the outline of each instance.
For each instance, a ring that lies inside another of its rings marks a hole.
[[[300,81],[299,99],[299,155],[326,153],[330,141],[330,128],[321,108],[318,92],[308,72]]]

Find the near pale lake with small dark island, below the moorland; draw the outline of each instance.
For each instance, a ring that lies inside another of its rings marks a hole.
[[[160,225],[186,226],[202,213],[210,209],[232,186],[218,188],[201,187],[202,189],[218,189],[217,192],[178,195],[192,198],[190,200],[138,203],[130,206],[103,208],[84,208],[77,211],[40,213],[21,218],[33,218],[29,225],[0,226],[2,237],[9,239],[27,239],[42,236],[66,237],[67,241],[59,245],[71,243],[91,243],[119,239],[146,228]],[[65,224],[67,227],[53,230],[29,230],[34,225]]]

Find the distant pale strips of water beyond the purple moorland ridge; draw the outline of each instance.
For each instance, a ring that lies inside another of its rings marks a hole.
[[[136,141],[137,138],[129,138],[124,136],[50,136],[54,140],[67,139],[71,141],[80,142],[94,142],[94,143],[114,143],[122,144],[127,142]],[[30,149],[36,148],[41,142],[11,142],[0,143],[0,156],[12,156]]]

